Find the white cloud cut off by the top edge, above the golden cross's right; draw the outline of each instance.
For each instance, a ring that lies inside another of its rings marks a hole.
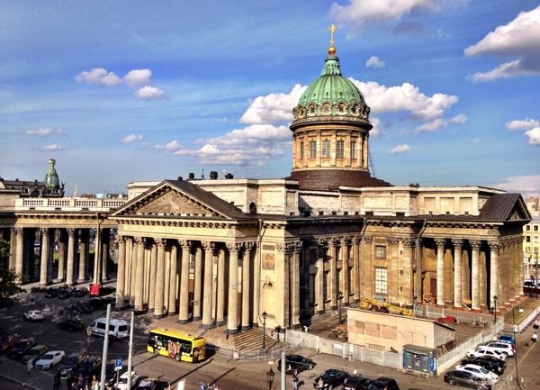
[[[338,23],[351,25],[361,30],[374,23],[398,21],[408,14],[422,11],[439,11],[445,3],[466,4],[467,1],[448,0],[349,0],[348,5],[334,3],[330,6],[329,18]]]

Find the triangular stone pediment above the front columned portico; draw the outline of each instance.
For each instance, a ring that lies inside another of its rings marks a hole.
[[[234,206],[190,183],[164,181],[124,204],[112,216],[234,218],[239,214],[241,211]]]

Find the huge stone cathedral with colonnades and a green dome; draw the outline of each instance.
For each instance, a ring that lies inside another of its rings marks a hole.
[[[135,182],[127,202],[109,204],[14,198],[0,207],[8,266],[28,269],[25,231],[39,230],[40,282],[48,284],[50,231],[67,231],[57,279],[103,281],[115,230],[118,309],[175,315],[203,329],[226,325],[229,333],[263,316],[268,326],[297,328],[364,297],[478,313],[493,308],[494,296],[498,310],[515,304],[523,295],[522,227],[531,219],[521,195],[392,186],[371,176],[368,103],[343,77],[332,45],[293,109],[289,177],[221,179],[212,171],[210,179]],[[93,270],[89,230],[100,232]]]

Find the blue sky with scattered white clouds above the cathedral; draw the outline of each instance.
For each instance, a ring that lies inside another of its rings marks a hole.
[[[0,177],[66,195],[277,178],[328,56],[371,107],[397,186],[540,195],[540,5],[518,0],[0,2]]]

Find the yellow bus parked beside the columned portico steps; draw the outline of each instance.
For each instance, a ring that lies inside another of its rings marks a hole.
[[[206,340],[181,331],[153,329],[148,335],[148,352],[175,358],[176,361],[204,360]]]

